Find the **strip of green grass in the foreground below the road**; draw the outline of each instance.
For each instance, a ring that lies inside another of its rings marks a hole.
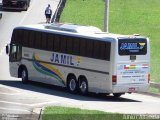
[[[67,107],[46,107],[42,120],[122,120],[122,114]]]

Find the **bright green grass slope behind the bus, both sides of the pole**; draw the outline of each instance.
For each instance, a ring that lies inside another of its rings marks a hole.
[[[151,80],[160,82],[160,0],[110,0],[109,32],[141,34],[151,42]],[[104,0],[67,0],[61,22],[103,30]]]

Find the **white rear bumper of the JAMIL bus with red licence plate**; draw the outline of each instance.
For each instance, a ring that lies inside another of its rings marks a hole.
[[[146,92],[149,89],[150,84],[126,84],[126,85],[113,85],[113,93],[134,93],[134,92]]]

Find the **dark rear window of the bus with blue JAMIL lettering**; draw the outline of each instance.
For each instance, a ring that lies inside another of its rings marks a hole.
[[[118,40],[119,55],[147,54],[147,40],[144,38],[127,38]]]

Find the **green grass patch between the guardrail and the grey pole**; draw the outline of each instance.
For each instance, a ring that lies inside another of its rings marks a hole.
[[[103,28],[103,0],[66,0],[60,21]]]

